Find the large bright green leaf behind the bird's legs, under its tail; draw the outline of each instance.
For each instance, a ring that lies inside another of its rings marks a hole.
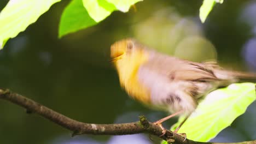
[[[198,105],[195,112],[179,129],[187,138],[206,142],[213,139],[220,131],[240,115],[256,99],[254,83],[234,83],[226,88],[211,92]],[[179,125],[184,117],[179,118]],[[175,127],[172,127],[174,130]]]

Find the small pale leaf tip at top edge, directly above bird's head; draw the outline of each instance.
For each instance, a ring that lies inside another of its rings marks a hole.
[[[109,3],[113,3],[118,10],[127,12],[131,5],[143,1],[143,0],[107,0]]]

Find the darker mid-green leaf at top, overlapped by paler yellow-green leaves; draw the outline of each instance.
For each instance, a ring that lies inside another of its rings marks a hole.
[[[82,0],[73,0],[61,15],[59,38],[96,24],[97,22],[89,16],[88,11],[84,8]]]

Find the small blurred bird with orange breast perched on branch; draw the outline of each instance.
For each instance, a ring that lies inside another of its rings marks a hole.
[[[154,124],[184,115],[182,124],[195,111],[199,100],[217,89],[240,79],[255,79],[256,74],[224,70],[217,62],[191,62],[150,49],[133,38],[119,40],[110,46],[110,58],[127,94],[153,109],[172,115]]]

